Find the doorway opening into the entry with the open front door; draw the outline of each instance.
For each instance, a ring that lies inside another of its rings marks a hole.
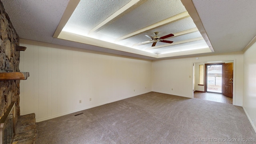
[[[194,98],[232,104],[233,61],[198,62],[193,69]]]

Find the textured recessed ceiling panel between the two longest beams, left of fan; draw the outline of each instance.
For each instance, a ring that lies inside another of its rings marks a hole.
[[[118,38],[185,11],[180,0],[148,0],[99,33]]]

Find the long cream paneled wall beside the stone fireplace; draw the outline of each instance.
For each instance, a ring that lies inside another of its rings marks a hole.
[[[20,71],[30,72],[20,81],[20,112],[37,122],[152,91],[151,61],[23,39],[20,46]]]

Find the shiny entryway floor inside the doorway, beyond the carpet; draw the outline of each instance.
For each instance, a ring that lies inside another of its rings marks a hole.
[[[194,98],[210,100],[210,101],[214,101],[214,102],[222,102],[222,103],[226,103],[226,104],[233,104],[232,98],[229,98],[227,96],[224,96],[223,94],[214,93],[214,92],[195,91]]]

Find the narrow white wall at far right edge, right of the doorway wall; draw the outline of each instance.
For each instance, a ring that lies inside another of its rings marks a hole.
[[[256,132],[256,43],[244,52],[243,108]],[[252,120],[254,123],[252,123]]]

